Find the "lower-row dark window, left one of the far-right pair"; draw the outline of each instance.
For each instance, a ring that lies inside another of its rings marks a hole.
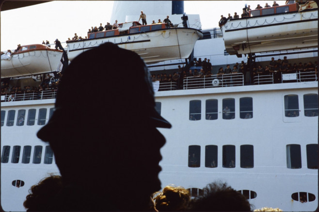
[[[286,146],[287,168],[301,168],[301,149],[299,144]]]

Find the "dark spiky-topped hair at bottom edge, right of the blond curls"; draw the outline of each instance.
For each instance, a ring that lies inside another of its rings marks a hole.
[[[191,200],[190,211],[251,211],[248,200],[227,183],[213,182]]]

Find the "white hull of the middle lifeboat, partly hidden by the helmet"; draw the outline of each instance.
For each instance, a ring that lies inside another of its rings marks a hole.
[[[135,51],[145,63],[188,58],[195,42],[203,35],[198,30],[173,28],[158,31],[98,38],[68,44],[68,58],[72,61],[80,53],[106,42]]]

